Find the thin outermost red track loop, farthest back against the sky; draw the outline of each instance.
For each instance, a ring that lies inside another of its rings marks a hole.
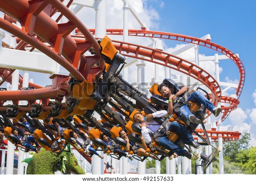
[[[95,34],[95,29],[90,29],[90,32],[92,34]],[[122,29],[107,29],[107,34],[108,35],[123,35],[123,30]],[[80,35],[79,29],[76,29],[76,35]],[[243,66],[240,58],[238,58],[236,56],[236,54],[231,52],[229,49],[227,49],[223,46],[220,46],[218,44],[212,43],[208,40],[202,40],[202,39],[199,39],[199,38],[196,38],[196,37],[174,34],[174,33],[169,33],[169,32],[148,31],[144,28],[142,30],[129,29],[128,30],[128,35],[130,35],[130,36],[139,36],[139,37],[149,37],[149,38],[162,38],[162,39],[169,39],[169,40],[175,40],[175,41],[183,41],[183,42],[187,42],[187,43],[193,43],[193,44],[198,44],[198,45],[201,45],[201,46],[205,46],[207,48],[214,49],[218,52],[221,52],[222,54],[226,55],[231,60],[233,60],[236,64],[236,66],[239,68],[240,78],[239,78],[238,88],[236,89],[236,95],[237,95],[237,98],[239,99],[239,97],[241,95],[242,88],[244,86],[245,71],[244,71],[244,66]],[[235,99],[235,98],[232,98],[232,97],[227,97],[227,96],[221,96],[219,98],[219,102],[230,104],[228,107],[227,106],[222,106],[222,113],[223,113],[223,116],[221,117],[222,122],[224,121],[224,119],[227,118],[227,116],[229,115],[229,113],[232,110],[237,108],[237,105],[239,104],[238,99]]]

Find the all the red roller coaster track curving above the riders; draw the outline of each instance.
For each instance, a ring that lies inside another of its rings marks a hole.
[[[70,72],[70,76],[73,76],[79,82],[84,81],[84,79],[93,82],[92,75],[101,75],[105,67],[105,62],[100,53],[100,46],[96,38],[93,37],[95,31],[93,29],[87,29],[60,0],[19,0],[15,1],[15,3],[11,0],[1,0],[0,11],[8,15],[5,19],[0,18],[0,28],[21,40],[15,49],[22,50],[29,44],[61,64]],[[64,15],[69,21],[67,23],[58,23],[59,17],[56,21],[53,20],[51,16],[55,12],[60,12],[61,15]],[[9,21],[10,19],[19,21],[22,27],[18,28]],[[76,36],[71,36],[70,33],[74,29],[79,30],[79,32]],[[122,29],[108,29],[107,34],[122,35]],[[236,90],[236,95],[239,98],[244,85],[244,66],[233,52],[223,46],[186,35],[147,31],[145,29],[129,30],[128,35],[163,38],[198,44],[227,55],[239,68],[239,87]],[[45,44],[45,42],[49,45]],[[230,111],[236,109],[239,104],[238,99],[221,96],[221,87],[215,78],[207,73],[207,71],[183,58],[145,46],[122,41],[112,40],[112,42],[116,49],[122,52],[122,55],[172,68],[203,83],[211,91],[211,99],[214,105],[217,105],[218,102],[229,104],[229,106],[222,106],[222,112],[224,114],[222,121],[228,116]],[[95,51],[95,55],[85,56],[84,53],[90,49]],[[98,66],[95,67],[94,65],[96,63],[98,63]],[[1,74],[6,77],[7,81],[12,72],[12,70],[4,70],[4,74]],[[42,88],[41,86],[34,85],[35,88],[37,88],[35,90],[0,91],[0,100],[11,100],[17,103],[19,100],[32,101],[41,99],[44,107],[47,108],[45,101],[52,98],[58,100],[60,97],[59,90],[62,89],[61,96],[67,95],[66,91],[69,87],[67,84],[68,80],[69,78],[65,76],[52,76],[52,87]],[[60,83],[63,85],[59,86],[58,84]],[[30,108],[29,104],[27,109],[30,110]],[[6,110],[6,107],[0,107],[0,110]],[[23,110],[26,110],[26,108],[23,108]]]

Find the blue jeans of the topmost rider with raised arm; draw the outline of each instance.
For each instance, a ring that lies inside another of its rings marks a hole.
[[[215,106],[206,98],[206,96],[204,96],[203,93],[197,90],[193,91],[188,97],[188,102],[196,102],[196,101],[200,102],[211,112],[215,108]],[[179,117],[183,116],[184,118],[186,118],[186,120],[189,120],[189,115],[194,115],[190,112],[189,106],[187,105],[181,106],[179,110]]]

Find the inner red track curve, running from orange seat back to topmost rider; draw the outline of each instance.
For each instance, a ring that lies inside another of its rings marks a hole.
[[[201,69],[197,65],[192,64],[191,62],[186,61],[183,58],[179,58],[175,55],[171,55],[158,49],[151,49],[145,46],[124,43],[121,41],[112,40],[112,42],[116,49],[119,50],[119,52],[123,51],[122,55],[131,58],[138,58],[155,64],[160,64],[197,79],[205,86],[207,86],[211,91],[212,103],[215,105],[218,103],[218,100],[221,96],[221,88],[218,82],[209,73],[207,73],[205,70]],[[127,54],[125,54],[124,52],[126,52]]]

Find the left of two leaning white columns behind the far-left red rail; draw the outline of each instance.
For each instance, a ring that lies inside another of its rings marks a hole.
[[[12,73],[12,90],[18,90],[20,70],[15,70]],[[6,160],[6,174],[13,174],[13,160],[15,145],[8,141],[7,145],[7,160]]]

